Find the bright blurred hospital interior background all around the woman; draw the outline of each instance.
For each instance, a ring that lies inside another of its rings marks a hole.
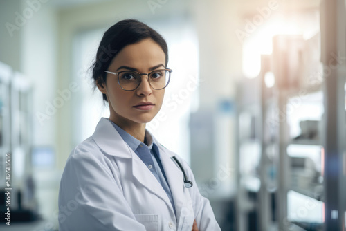
[[[90,67],[122,19],[167,41],[146,128],[221,230],[345,230],[345,15],[342,0],[0,0],[0,230],[59,230],[66,160],[109,117]]]

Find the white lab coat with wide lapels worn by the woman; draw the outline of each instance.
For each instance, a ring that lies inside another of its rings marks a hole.
[[[78,145],[66,162],[59,192],[59,230],[191,231],[194,219],[199,231],[221,230],[190,167],[165,147],[159,145],[159,150],[176,216],[152,172],[111,122],[102,118],[93,136]],[[170,158],[174,155],[192,187],[184,187],[183,173]]]

